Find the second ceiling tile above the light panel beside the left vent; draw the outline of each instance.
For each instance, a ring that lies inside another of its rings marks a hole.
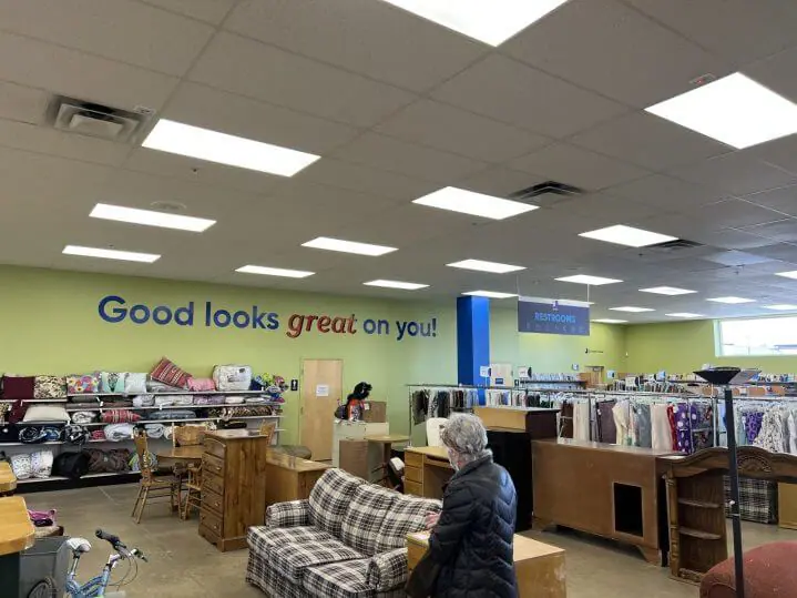
[[[370,126],[415,97],[238,36],[219,33],[190,79],[294,110]]]

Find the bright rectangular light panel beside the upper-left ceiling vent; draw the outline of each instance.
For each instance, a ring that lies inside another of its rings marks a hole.
[[[166,119],[157,121],[142,145],[150,150],[280,176],[293,176],[320,158]]]

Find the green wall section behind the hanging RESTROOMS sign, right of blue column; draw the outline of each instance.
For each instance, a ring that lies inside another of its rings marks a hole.
[[[625,326],[591,324],[590,336],[559,336],[518,332],[518,312],[493,308],[490,318],[491,361],[528,365],[534,372],[572,372],[579,364],[625,371]],[[585,349],[603,351],[586,354]]]

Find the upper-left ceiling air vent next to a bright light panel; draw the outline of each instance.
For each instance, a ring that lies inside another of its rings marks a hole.
[[[48,110],[54,129],[125,143],[142,128],[150,114],[58,95]]]

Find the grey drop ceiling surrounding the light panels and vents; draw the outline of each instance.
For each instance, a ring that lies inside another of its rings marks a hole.
[[[791,0],[571,0],[498,48],[380,0],[0,0],[0,263],[374,297],[490,290],[594,301],[631,322],[772,314],[797,281],[797,135],[742,151],[644,112],[695,78],[742,72],[797,101]],[[53,95],[320,155],[273,176],[52,129]],[[505,221],[412,204],[445,186],[583,195]],[[90,219],[167,202],[203,234]],[[624,224],[703,246],[583,239]],[[302,247],[330,236],[381,257]],[[67,244],[162,254],[62,255]],[[478,259],[497,275],[446,267]],[[246,264],[316,272],[236,273]],[[587,290],[554,278],[622,284]],[[364,286],[375,278],[430,286]],[[680,296],[638,293],[674,286]],[[742,296],[725,305],[708,297]],[[511,300],[510,300],[511,301]]]

